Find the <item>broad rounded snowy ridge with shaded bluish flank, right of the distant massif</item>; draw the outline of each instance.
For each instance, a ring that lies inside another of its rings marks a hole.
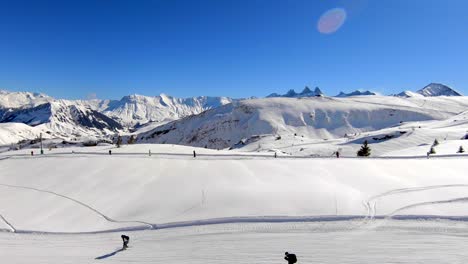
[[[267,98],[229,104],[157,127],[139,142],[208,148],[235,147],[261,135],[302,135],[309,139],[384,129],[402,122],[442,120],[468,108],[468,98],[386,96]]]

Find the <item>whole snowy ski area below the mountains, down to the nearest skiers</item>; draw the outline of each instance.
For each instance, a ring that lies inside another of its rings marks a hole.
[[[468,259],[462,154],[274,158],[168,144],[30,151],[0,154],[5,263],[283,263],[285,251],[299,263]]]

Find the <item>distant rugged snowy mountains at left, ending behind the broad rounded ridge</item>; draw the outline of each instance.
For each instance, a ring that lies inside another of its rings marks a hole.
[[[2,90],[0,123],[23,123],[67,139],[106,137],[141,124],[163,124],[232,101],[227,97],[175,98],[164,94],[130,95],[121,100],[63,100],[38,93]]]

